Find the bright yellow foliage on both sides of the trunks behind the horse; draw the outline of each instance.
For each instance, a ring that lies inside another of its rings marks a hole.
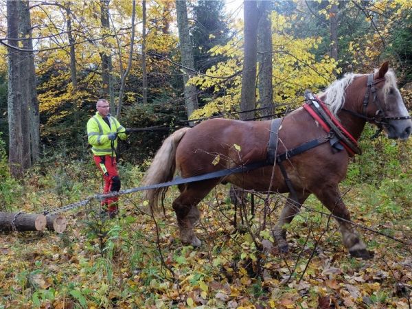
[[[296,38],[288,32],[293,27],[296,15],[283,16],[272,12],[273,38],[273,102],[292,103],[305,89],[317,92],[334,79],[333,70],[336,62],[328,55],[316,60],[312,49],[317,49],[321,38]],[[233,25],[238,33],[242,33],[242,23]],[[224,46],[213,47],[212,56],[222,55],[227,60],[219,62],[207,72],[194,76],[189,82],[200,89],[211,88],[216,98],[199,108],[192,114],[192,119],[209,117],[214,113],[231,111],[240,103],[241,76],[236,74],[243,65],[243,37],[234,36]],[[259,71],[259,69],[258,69]]]

